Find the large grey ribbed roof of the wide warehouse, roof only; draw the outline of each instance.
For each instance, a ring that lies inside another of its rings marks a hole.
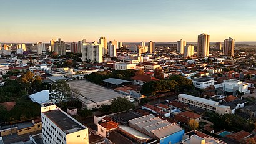
[[[78,93],[78,98],[87,104],[112,100],[117,97],[126,97],[126,95],[87,80],[73,80],[67,83],[71,90],[73,89],[74,92]]]

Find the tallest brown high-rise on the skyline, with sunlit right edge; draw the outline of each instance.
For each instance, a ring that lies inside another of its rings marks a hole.
[[[210,49],[210,35],[200,34],[197,39],[197,57],[208,57]]]

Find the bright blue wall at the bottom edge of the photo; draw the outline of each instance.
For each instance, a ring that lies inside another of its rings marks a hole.
[[[173,133],[172,135],[161,138],[160,144],[169,144],[169,142],[174,144],[174,143],[180,142],[182,140],[183,135],[184,135],[184,130],[180,130],[179,132]]]

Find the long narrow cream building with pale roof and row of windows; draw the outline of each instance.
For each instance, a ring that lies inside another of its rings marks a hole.
[[[187,94],[179,94],[178,100],[181,103],[190,105],[193,107],[201,108],[203,110],[209,110],[211,112],[217,112],[220,115],[230,112],[230,107],[225,105],[219,105],[219,102],[207,100],[205,98],[194,97]]]

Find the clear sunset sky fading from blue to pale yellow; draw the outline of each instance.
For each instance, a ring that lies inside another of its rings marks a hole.
[[[0,42],[256,41],[255,0],[0,0]]]

